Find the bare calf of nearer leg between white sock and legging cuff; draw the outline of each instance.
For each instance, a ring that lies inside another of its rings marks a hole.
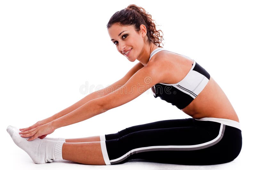
[[[62,158],[87,165],[106,165],[100,142],[64,143]]]

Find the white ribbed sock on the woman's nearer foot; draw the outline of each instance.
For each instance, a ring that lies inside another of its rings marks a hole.
[[[13,126],[7,127],[7,132],[12,137],[14,143],[28,153],[36,164],[52,162],[53,159],[62,159],[62,145],[64,141],[52,141],[36,138],[28,141],[22,138],[19,130]]]

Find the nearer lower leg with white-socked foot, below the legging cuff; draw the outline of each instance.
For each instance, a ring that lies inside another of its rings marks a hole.
[[[62,141],[36,138],[27,141],[19,130],[8,126],[8,133],[16,145],[28,153],[36,164],[52,162],[54,159],[66,159],[89,165],[106,165],[101,152],[100,142],[65,143]]]

